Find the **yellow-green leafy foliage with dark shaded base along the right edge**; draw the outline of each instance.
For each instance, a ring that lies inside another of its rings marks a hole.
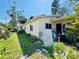
[[[69,36],[70,40],[73,42],[79,42],[79,4],[75,7],[76,14],[73,16],[67,16],[64,21],[67,25],[70,24],[68,28],[66,28],[66,34]]]

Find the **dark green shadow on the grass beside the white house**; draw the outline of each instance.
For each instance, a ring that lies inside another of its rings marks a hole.
[[[34,44],[38,40],[34,40],[33,37],[26,34],[25,32],[17,34],[17,36],[24,55],[31,55],[34,52],[34,50],[38,48],[38,43]]]

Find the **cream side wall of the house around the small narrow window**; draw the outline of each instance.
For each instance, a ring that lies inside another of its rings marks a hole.
[[[33,31],[30,31],[30,25],[33,26]],[[39,21],[35,20],[33,22],[26,24],[26,30],[25,30],[26,33],[39,37],[38,30],[39,30]]]

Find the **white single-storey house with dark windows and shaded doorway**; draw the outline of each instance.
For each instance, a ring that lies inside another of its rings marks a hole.
[[[51,46],[53,43],[52,32],[56,31],[57,34],[61,34],[63,31],[61,20],[62,18],[54,16],[33,17],[25,24],[25,31],[43,40],[45,46]]]

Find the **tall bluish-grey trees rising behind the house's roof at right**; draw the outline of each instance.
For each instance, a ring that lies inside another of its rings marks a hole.
[[[52,15],[54,16],[66,16],[69,14],[69,3],[67,0],[64,0],[63,6],[60,3],[61,0],[53,0],[52,2],[52,6],[51,6],[51,11],[52,11]]]

